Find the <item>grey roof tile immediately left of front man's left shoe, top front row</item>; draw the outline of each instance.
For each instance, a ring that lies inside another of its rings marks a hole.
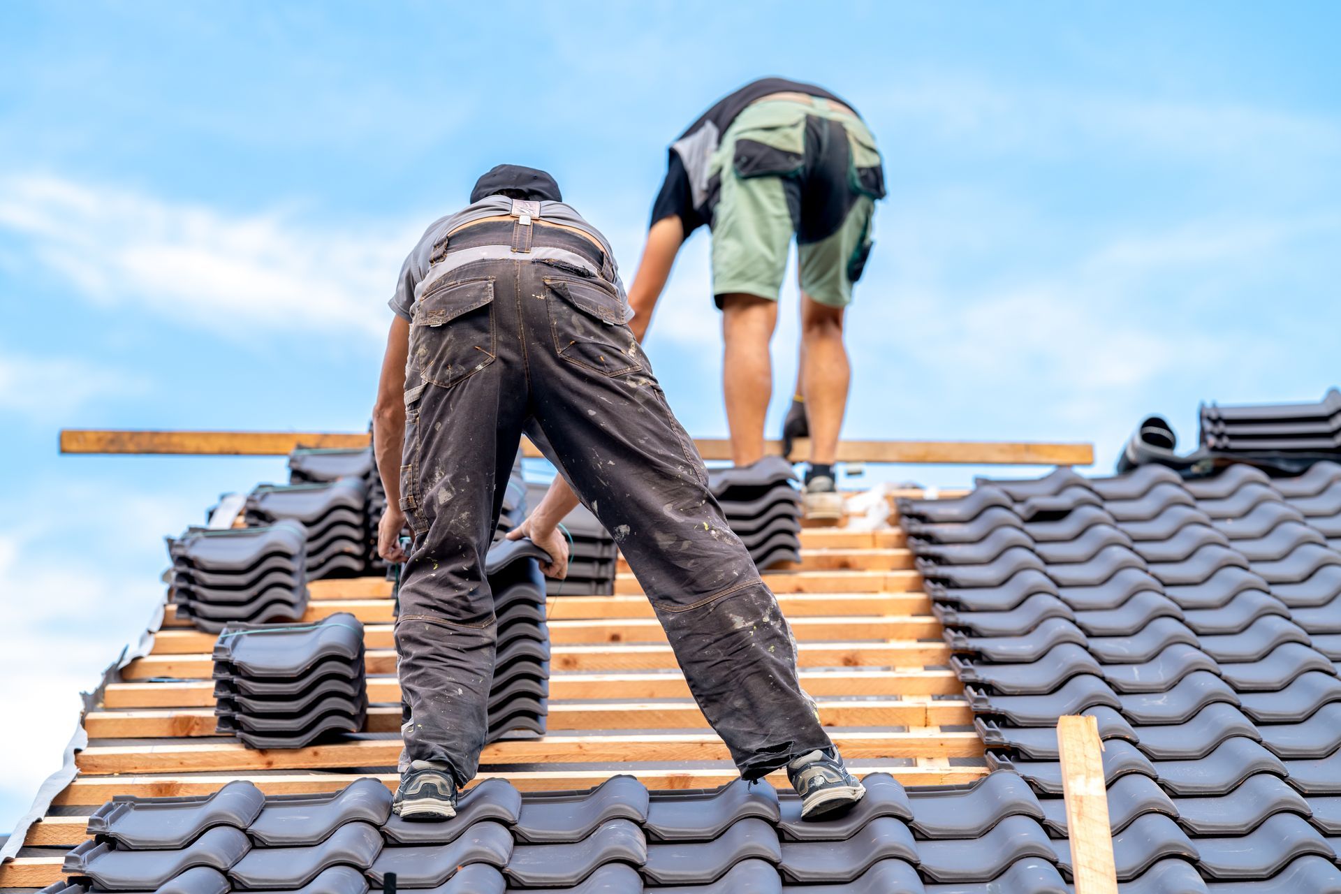
[[[326,840],[345,823],[381,826],[390,815],[392,792],[365,777],[335,792],[271,796],[247,834],[267,847],[310,846]]]

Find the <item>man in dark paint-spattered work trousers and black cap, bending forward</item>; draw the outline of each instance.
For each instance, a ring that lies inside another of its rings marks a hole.
[[[546,574],[566,572],[557,525],[575,491],[637,575],[742,776],[787,767],[810,818],[856,803],[865,789],[801,689],[778,602],[626,326],[610,245],[554,180],[511,165],[481,177],[471,205],[410,252],[390,307],[374,445],[389,503],[378,548],[406,562],[396,812],[453,816],[477,771],[496,643],[484,556],[523,432],[559,472],[512,532],[548,551]]]

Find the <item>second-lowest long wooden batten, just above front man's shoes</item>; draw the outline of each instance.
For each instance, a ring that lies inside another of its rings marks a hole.
[[[904,732],[833,732],[834,744],[848,760],[917,757],[964,751],[978,736],[972,732],[924,736]],[[345,767],[394,767],[400,739],[357,739],[307,748],[253,751],[241,743],[168,743],[90,745],[75,756],[80,773],[182,773],[239,772],[256,769],[338,769]],[[712,733],[629,733],[601,736],[543,736],[510,739],[484,747],[480,763],[628,763],[727,760],[725,744]]]

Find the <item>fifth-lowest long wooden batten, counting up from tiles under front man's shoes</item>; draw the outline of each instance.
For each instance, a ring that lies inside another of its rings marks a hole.
[[[797,661],[802,667],[923,667],[948,663],[949,647],[939,641],[802,642],[797,645]],[[365,654],[363,666],[370,674],[393,674],[396,653],[390,649],[371,649]],[[614,672],[677,666],[670,646],[661,643],[554,646],[550,655],[551,670]],[[123,667],[121,678],[205,680],[213,669],[215,662],[207,654],[146,655]]]

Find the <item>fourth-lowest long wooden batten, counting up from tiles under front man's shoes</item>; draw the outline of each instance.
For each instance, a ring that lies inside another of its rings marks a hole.
[[[952,670],[802,670],[801,685],[817,697],[826,696],[959,696],[963,686]],[[394,677],[369,677],[371,702],[398,702],[401,686]],[[679,673],[554,674],[550,677],[551,704],[559,700],[591,698],[688,698],[689,685]],[[212,708],[215,684],[130,682],[110,684],[103,690],[103,708]]]

